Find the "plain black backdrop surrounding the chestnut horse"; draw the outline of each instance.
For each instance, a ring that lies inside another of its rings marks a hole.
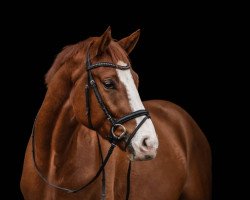
[[[229,191],[236,193],[232,180],[237,178],[234,166],[239,156],[233,149],[239,144],[232,141],[236,133],[241,134],[236,124],[244,105],[241,93],[246,91],[239,63],[244,55],[238,46],[242,31],[238,12],[233,5],[127,4],[115,9],[97,2],[65,4],[64,8],[29,5],[32,8],[18,9],[20,5],[15,5],[15,10],[3,16],[8,19],[3,24],[6,36],[2,39],[8,47],[4,68],[6,76],[11,76],[5,82],[5,100],[10,103],[6,118],[11,124],[8,135],[14,141],[8,148],[14,151],[8,150],[7,158],[15,158],[16,167],[6,188],[15,188],[8,194],[17,195],[16,199],[22,199],[23,157],[46,92],[45,73],[64,46],[99,36],[109,25],[115,39],[141,29],[130,58],[140,77],[142,100],[165,99],[184,108],[211,145],[213,199],[225,199]]]

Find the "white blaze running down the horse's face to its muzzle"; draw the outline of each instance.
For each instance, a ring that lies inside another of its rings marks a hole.
[[[118,61],[118,65],[126,66],[127,64]],[[138,90],[135,86],[134,79],[132,77],[131,71],[128,70],[119,70],[116,69],[118,77],[120,81],[124,84],[129,104],[131,106],[131,110],[145,110],[145,107],[142,104],[141,98],[139,96]],[[136,124],[138,125],[145,116],[135,118]],[[143,140],[146,140],[146,144],[148,148],[143,145]],[[156,131],[151,119],[147,119],[145,123],[140,127],[135,136],[133,137],[131,144],[135,151],[135,159],[145,159],[145,155],[150,155],[152,157],[156,156],[156,150],[158,148],[158,138],[156,135]]]

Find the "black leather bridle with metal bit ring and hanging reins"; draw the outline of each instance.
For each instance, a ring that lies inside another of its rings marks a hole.
[[[134,112],[131,112],[123,117],[121,117],[120,119],[115,119],[114,117],[112,117],[112,114],[110,113],[110,111],[108,110],[108,108],[105,106],[104,101],[102,100],[102,96],[98,90],[97,84],[95,82],[95,79],[92,75],[92,70],[99,68],[99,67],[111,67],[111,68],[115,68],[115,69],[119,69],[119,70],[129,70],[130,66],[127,64],[126,66],[121,66],[121,65],[117,65],[114,63],[110,63],[110,62],[98,62],[98,63],[91,63],[91,59],[90,59],[90,47],[91,47],[92,43],[89,45],[88,50],[87,50],[87,59],[86,59],[86,70],[87,70],[87,74],[88,74],[88,82],[86,84],[85,87],[85,95],[86,95],[86,114],[88,117],[88,124],[89,124],[89,128],[94,129],[92,121],[91,121],[91,104],[90,104],[90,89],[93,89],[95,97],[101,107],[101,109],[103,110],[107,120],[110,122],[111,124],[111,128],[110,128],[110,134],[108,136],[108,140],[111,144],[108,153],[106,155],[105,158],[103,158],[103,153],[102,153],[102,149],[101,149],[101,144],[100,144],[100,139],[99,139],[99,135],[97,133],[97,139],[98,139],[98,147],[99,147],[99,153],[100,153],[100,157],[101,157],[101,161],[102,161],[102,165],[100,166],[99,170],[97,171],[96,175],[85,185],[76,188],[76,189],[69,189],[69,188],[65,188],[65,187],[61,187],[58,186],[56,184],[53,184],[51,182],[48,181],[48,179],[41,173],[41,171],[39,170],[37,163],[36,163],[36,159],[35,159],[35,122],[33,124],[33,128],[32,128],[32,157],[33,157],[33,163],[36,169],[37,174],[40,176],[40,178],[47,183],[49,186],[65,191],[67,193],[76,193],[79,192],[81,190],[83,190],[84,188],[86,188],[87,186],[89,186],[91,183],[93,183],[98,177],[99,175],[102,173],[102,200],[105,199],[106,197],[106,179],[105,179],[105,166],[114,150],[114,148],[116,147],[117,143],[120,142],[121,140],[126,140],[125,143],[125,148],[123,149],[123,151],[126,151],[126,148],[128,147],[128,145],[130,144],[132,138],[135,136],[135,134],[137,133],[137,131],[139,130],[139,128],[143,125],[143,123],[150,118],[150,115],[148,113],[148,111],[146,110],[137,110]],[[136,128],[134,129],[134,131],[128,136],[127,135],[127,131],[125,126],[123,126],[123,124],[125,122],[128,122],[132,119],[135,119],[137,117],[141,117],[144,116],[144,118],[141,120],[141,122],[136,126]],[[122,129],[122,133],[120,135],[116,135],[115,130],[120,127]],[[128,137],[126,137],[128,136]],[[130,171],[131,171],[131,161],[129,162],[129,167],[128,167],[128,173],[127,173],[127,192],[126,192],[126,199],[129,198],[129,192],[130,192]]]

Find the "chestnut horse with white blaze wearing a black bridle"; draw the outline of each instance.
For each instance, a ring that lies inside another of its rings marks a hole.
[[[25,200],[211,199],[199,126],[174,103],[140,99],[129,60],[139,36],[114,40],[109,27],[57,55],[25,153]]]

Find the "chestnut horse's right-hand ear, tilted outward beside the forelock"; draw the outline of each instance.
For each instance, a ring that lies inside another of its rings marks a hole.
[[[140,29],[138,29],[130,36],[125,37],[118,41],[118,44],[127,52],[127,54],[130,54],[130,52],[134,49],[136,43],[139,40],[140,32],[141,32]]]

